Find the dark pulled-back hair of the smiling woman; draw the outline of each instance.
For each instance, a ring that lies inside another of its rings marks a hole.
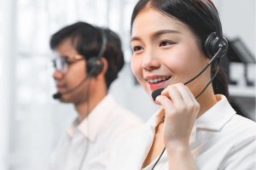
[[[212,7],[215,8],[211,0],[207,0],[207,2],[211,3]],[[200,0],[140,0],[131,16],[131,28],[137,14],[147,6],[160,11],[160,13],[172,16],[183,22],[186,26],[189,26],[191,31],[193,31],[197,37],[199,48],[206,54],[205,49],[203,48],[204,43],[208,35],[215,31],[216,26],[212,14],[210,14]],[[212,75],[215,73],[217,66],[217,62],[212,64]],[[229,98],[228,82],[221,65],[219,65],[218,74],[213,80],[212,86],[215,94],[224,94]]]

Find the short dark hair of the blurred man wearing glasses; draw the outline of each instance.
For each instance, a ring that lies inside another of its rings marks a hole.
[[[50,38],[49,46],[55,50],[61,42],[70,38],[77,52],[88,60],[91,57],[97,57],[102,48],[102,32],[100,29],[104,31],[107,37],[107,45],[103,56],[108,60],[108,71],[105,80],[107,88],[109,88],[125,64],[122,44],[115,32],[108,28],[99,28],[85,22],[77,22],[55,32]]]

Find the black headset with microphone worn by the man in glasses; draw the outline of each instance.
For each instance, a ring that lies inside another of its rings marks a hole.
[[[91,77],[97,77],[98,74],[102,72],[102,69],[104,67],[104,63],[102,61],[102,56],[107,48],[107,36],[105,32],[102,30],[102,28],[97,28],[99,31],[101,31],[101,37],[102,37],[102,46],[100,49],[100,52],[98,53],[97,56],[92,56],[90,59],[86,61],[86,71],[87,71],[87,76],[84,77],[84,79],[79,82],[79,84],[73,88],[68,89],[65,93],[59,93],[57,92],[56,94],[53,94],[54,99],[61,99],[61,96],[63,94],[69,94],[72,93],[74,90],[79,88],[85,81],[87,81]]]

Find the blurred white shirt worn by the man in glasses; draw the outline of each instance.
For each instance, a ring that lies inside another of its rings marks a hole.
[[[142,124],[108,94],[83,122],[73,122],[56,147],[49,169],[105,170],[114,141]]]

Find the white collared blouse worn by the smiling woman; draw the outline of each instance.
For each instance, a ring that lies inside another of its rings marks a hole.
[[[201,170],[256,169],[256,123],[236,114],[223,95],[218,103],[195,121],[190,148]],[[143,127],[126,133],[115,144],[108,170],[151,170],[142,168],[154,140],[154,129],[163,115],[158,111]],[[154,170],[167,170],[166,151]]]

